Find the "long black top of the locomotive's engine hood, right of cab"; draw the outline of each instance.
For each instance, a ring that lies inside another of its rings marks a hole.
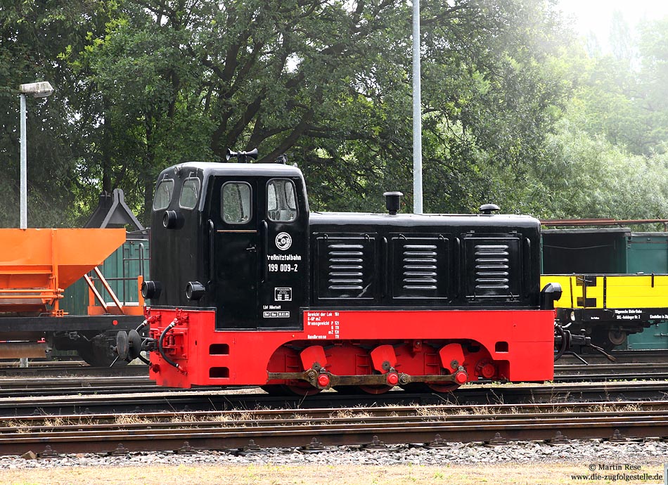
[[[518,214],[370,214],[364,212],[311,212],[311,226],[318,224],[397,224],[404,226],[431,226],[443,224],[447,217],[452,224],[469,226],[489,225],[490,221],[502,226],[536,227],[540,221],[532,216]]]

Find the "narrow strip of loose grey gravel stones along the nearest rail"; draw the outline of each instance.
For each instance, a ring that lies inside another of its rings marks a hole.
[[[57,450],[56,450],[57,451]],[[39,451],[35,451],[39,453]],[[198,451],[178,453],[127,453],[110,456],[94,453],[60,455],[56,458],[0,458],[0,470],[123,465],[425,465],[439,466],[499,463],[668,463],[668,442],[571,441],[567,444],[516,442],[501,446],[450,443],[444,448],[391,445],[385,450],[341,446],[307,453],[293,448],[271,448],[257,453]]]

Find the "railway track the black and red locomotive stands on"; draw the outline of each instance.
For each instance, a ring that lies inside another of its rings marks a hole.
[[[127,390],[127,389],[126,389]],[[164,389],[124,394],[1,397],[0,416],[147,413],[256,408],[338,408],[341,406],[409,406],[453,403],[575,403],[591,401],[647,401],[664,399],[668,382],[600,382],[586,384],[466,385],[452,394],[413,394],[396,391],[381,395],[323,392],[308,398],[279,398],[259,389]]]

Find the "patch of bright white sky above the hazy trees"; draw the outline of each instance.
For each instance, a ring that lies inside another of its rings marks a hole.
[[[607,50],[612,13],[620,11],[629,27],[640,20],[658,20],[668,16],[668,0],[559,0],[565,15],[572,15],[577,32],[593,32],[600,46]]]

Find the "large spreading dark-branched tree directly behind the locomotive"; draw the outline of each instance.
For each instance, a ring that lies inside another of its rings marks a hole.
[[[72,193],[70,215],[120,187],[146,220],[162,167],[255,146],[300,164],[316,209],[380,209],[388,188],[409,204],[409,2],[41,0],[15,11],[38,3],[63,30],[45,59],[63,84],[70,139],[54,193]],[[518,209],[513,187],[546,154],[569,88],[552,67],[552,1],[422,7],[425,209]]]

